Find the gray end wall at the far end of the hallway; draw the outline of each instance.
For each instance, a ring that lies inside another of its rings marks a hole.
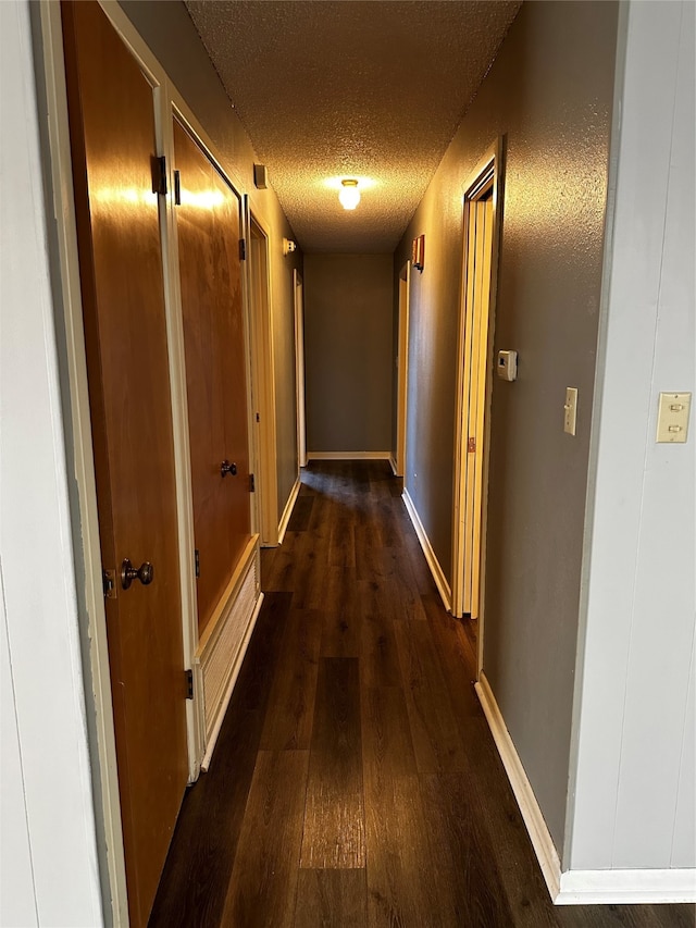
[[[391,447],[391,255],[304,257],[307,449]]]

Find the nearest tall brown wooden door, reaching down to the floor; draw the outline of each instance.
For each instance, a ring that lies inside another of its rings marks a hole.
[[[96,3],[63,7],[128,908],[146,925],[188,779],[152,87]],[[149,585],[120,570],[153,565]]]

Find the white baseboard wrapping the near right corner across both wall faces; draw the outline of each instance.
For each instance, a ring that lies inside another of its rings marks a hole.
[[[554,905],[629,905],[696,902],[696,870],[566,870],[546,827],[485,673],[476,683],[496,747],[542,868]]]

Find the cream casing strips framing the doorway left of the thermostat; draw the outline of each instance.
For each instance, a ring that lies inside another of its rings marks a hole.
[[[457,348],[457,408],[455,419],[455,492],[453,492],[453,524],[452,524],[452,615],[463,613],[463,557],[464,541],[462,519],[467,487],[467,424],[468,424],[468,384],[464,373],[465,322],[467,322],[467,270],[468,245],[470,232],[470,205],[480,199],[489,189],[493,190],[493,242],[490,256],[490,288],[488,297],[488,359],[486,364],[484,440],[483,440],[483,485],[481,502],[481,608],[478,616],[478,670],[483,661],[484,604],[485,604],[485,549],[486,549],[486,514],[488,498],[488,457],[490,436],[490,399],[493,387],[493,338],[495,331],[495,305],[498,279],[498,250],[502,215],[502,144],[498,139],[486,152],[476,170],[470,176],[463,191],[463,256],[462,256],[462,287],[460,297],[459,335]]]

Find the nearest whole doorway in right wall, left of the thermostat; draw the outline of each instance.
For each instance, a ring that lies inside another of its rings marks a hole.
[[[455,447],[452,614],[482,619],[488,418],[499,232],[499,148],[467,185]]]

